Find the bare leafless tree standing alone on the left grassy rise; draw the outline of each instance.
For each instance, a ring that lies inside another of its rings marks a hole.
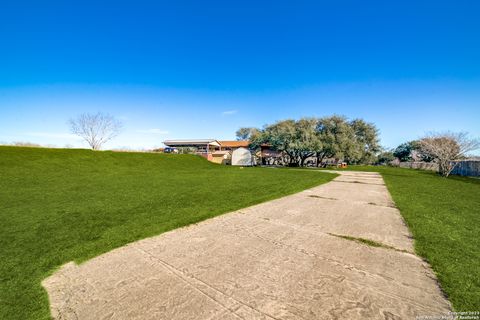
[[[93,150],[99,150],[105,142],[115,138],[122,129],[122,123],[109,114],[83,113],[69,120],[70,131],[82,137]]]

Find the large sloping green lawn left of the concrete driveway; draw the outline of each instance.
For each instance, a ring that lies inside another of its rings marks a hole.
[[[41,281],[68,261],[334,177],[191,155],[0,147],[0,319],[48,319]]]

